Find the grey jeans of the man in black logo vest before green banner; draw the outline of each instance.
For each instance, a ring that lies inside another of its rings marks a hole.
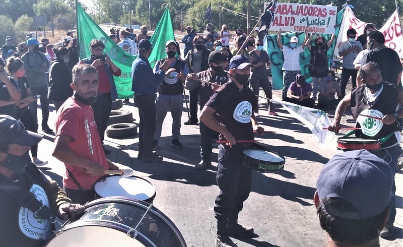
[[[166,97],[166,96],[165,96]],[[156,129],[154,140],[159,140],[161,137],[162,123],[169,109],[172,116],[172,139],[179,139],[180,136],[180,118],[182,117],[183,96],[175,95],[170,98],[158,96],[155,106],[157,109]]]

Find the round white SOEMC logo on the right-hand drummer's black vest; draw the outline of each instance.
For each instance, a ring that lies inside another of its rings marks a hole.
[[[383,114],[380,111],[374,109],[363,110],[360,114],[374,116],[377,118],[383,117]],[[361,125],[362,133],[369,137],[376,136],[383,127],[383,122],[381,120],[371,117],[359,116],[357,118],[357,122],[359,122]]]

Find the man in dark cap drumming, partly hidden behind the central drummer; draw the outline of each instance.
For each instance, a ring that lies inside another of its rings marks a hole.
[[[228,82],[228,72],[223,70],[223,60],[224,56],[221,52],[213,51],[209,55],[210,68],[197,74],[189,74],[186,78],[186,89],[192,90],[194,88],[200,88],[198,91],[200,110],[202,110],[207,101],[209,101],[213,92],[221,85]],[[200,81],[200,79],[205,82]],[[207,83],[206,81],[211,83]],[[207,127],[203,121],[200,122],[199,129],[201,161],[194,168],[196,170],[210,169],[212,168],[211,154],[213,150],[212,142],[214,131]]]

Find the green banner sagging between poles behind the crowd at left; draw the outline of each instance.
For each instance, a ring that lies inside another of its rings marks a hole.
[[[80,4],[77,4],[77,35],[80,44],[80,59],[91,55],[91,40],[100,39],[105,44],[104,52],[122,71],[120,77],[114,77],[118,98],[132,98],[131,65],[137,56],[127,54],[115,42],[113,42],[112,39],[109,38],[109,35],[107,35],[98,24],[95,23]],[[153,51],[149,57],[151,66],[154,67],[157,60],[166,56],[165,43],[170,39],[174,39],[174,35],[169,8],[166,8],[154,35],[151,37],[151,43],[153,43]]]

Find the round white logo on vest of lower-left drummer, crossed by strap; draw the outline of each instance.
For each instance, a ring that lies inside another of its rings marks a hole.
[[[42,187],[40,187],[38,184],[32,184],[32,187],[29,191],[35,194],[36,199],[38,199],[41,203],[47,207],[50,207],[46,193]],[[47,239],[52,234],[52,223],[49,220],[40,218],[27,208],[20,208],[20,212],[18,213],[18,222],[21,232],[29,238]]]

